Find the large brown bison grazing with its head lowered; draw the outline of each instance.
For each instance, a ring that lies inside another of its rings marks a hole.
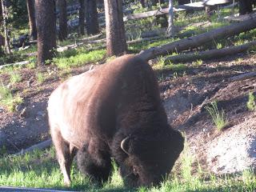
[[[63,82],[50,95],[50,133],[66,185],[78,167],[99,182],[111,159],[129,186],[158,184],[183,149],[182,134],[167,123],[154,71],[126,55]]]

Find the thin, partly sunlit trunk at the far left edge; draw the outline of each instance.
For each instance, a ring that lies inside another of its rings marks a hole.
[[[9,31],[8,31],[8,14],[7,14],[7,6],[6,0],[2,0],[2,24],[5,34],[5,50],[6,54],[11,54],[10,51],[10,38],[9,38]]]

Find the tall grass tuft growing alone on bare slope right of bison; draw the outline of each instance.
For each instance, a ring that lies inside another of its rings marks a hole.
[[[209,106],[206,106],[206,110],[213,119],[214,125],[216,126],[217,130],[221,131],[228,123],[224,110],[218,110],[218,104],[216,101],[211,102]]]

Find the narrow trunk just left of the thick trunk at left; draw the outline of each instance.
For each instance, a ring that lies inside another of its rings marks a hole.
[[[34,0],[26,0],[27,12],[29,15],[30,24],[30,39],[37,39],[37,26],[35,22],[35,10],[34,10]]]

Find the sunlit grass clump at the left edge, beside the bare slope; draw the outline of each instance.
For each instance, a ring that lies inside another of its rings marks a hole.
[[[0,105],[5,106],[7,110],[14,111],[15,106],[20,103],[22,103],[22,98],[18,95],[13,96],[11,90],[2,83],[0,85]]]

